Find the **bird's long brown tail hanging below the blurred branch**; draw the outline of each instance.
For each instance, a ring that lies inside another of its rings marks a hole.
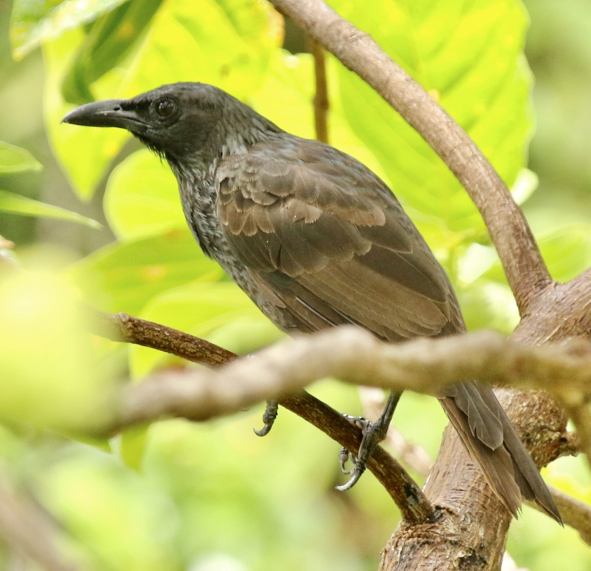
[[[562,525],[550,491],[492,389],[473,382],[454,385],[440,401],[507,510],[517,517],[523,495]]]

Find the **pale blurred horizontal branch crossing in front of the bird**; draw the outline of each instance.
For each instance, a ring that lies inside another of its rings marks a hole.
[[[126,322],[130,319],[142,322],[125,316]],[[151,322],[143,322],[142,326],[155,327],[157,332],[165,330],[165,342],[152,343],[154,348],[183,355],[184,348],[190,345],[191,336],[186,333]],[[126,335],[126,340],[134,342]],[[172,346],[174,335],[178,335],[183,348]],[[196,343],[198,351],[210,345],[202,339],[196,339]],[[139,344],[145,345],[143,335]],[[566,404],[584,403],[591,381],[591,349],[587,345],[582,351],[580,342],[574,346],[574,352],[573,343],[544,348],[522,346],[488,331],[391,345],[358,327],[334,327],[276,343],[253,358],[229,362],[220,371],[194,371],[190,375],[173,371],[164,374],[167,382],[161,382],[160,375],[133,385],[126,392],[119,422],[126,426],[167,414],[207,420],[268,398],[283,398],[325,377],[433,395],[448,385],[475,380],[544,388]],[[187,351],[187,358],[206,362],[196,359],[192,349]]]

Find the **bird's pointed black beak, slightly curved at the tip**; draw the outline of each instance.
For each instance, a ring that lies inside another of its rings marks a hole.
[[[145,125],[128,99],[87,103],[70,111],[61,122],[90,127],[120,127],[129,131],[137,131],[138,126]]]

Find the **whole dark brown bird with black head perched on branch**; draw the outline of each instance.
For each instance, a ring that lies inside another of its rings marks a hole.
[[[341,324],[398,342],[465,331],[445,272],[372,171],[319,141],[282,131],[217,87],[176,83],[89,103],[66,123],[121,127],[165,158],[203,252],[287,333]],[[399,395],[363,444],[350,487],[387,430]],[[491,388],[473,382],[440,402],[506,509],[521,495],[560,515]]]

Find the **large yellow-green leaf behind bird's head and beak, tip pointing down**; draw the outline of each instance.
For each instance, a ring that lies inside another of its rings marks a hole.
[[[193,0],[165,0],[141,41],[134,43],[129,38],[126,45],[134,46],[118,66],[92,85],[73,91],[84,96],[82,92],[89,90],[97,99],[113,99],[131,97],[164,83],[201,81],[245,98],[261,84],[269,58],[280,46],[280,22],[277,13],[258,0],[201,0],[199,9]],[[85,41],[78,31],[47,44],[46,118],[54,151],[74,189],[88,197],[127,135],[121,129],[72,125],[57,130],[61,117],[71,109],[61,93],[63,77]],[[100,51],[97,45],[96,57],[107,57],[113,46]],[[104,61],[94,66],[100,71],[109,67]]]

